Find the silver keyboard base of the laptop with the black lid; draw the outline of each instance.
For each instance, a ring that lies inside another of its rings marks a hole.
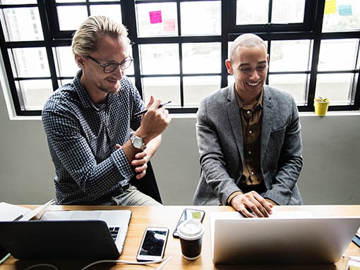
[[[130,210],[45,211],[40,217],[40,221],[105,221],[119,254],[124,247],[130,219]]]

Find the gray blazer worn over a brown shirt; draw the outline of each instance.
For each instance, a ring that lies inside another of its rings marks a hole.
[[[301,125],[294,98],[264,85],[260,164],[267,192],[277,204],[303,204],[296,180],[303,166]],[[226,205],[239,190],[243,171],[243,135],[234,85],[200,102],[196,135],[201,176],[193,202]]]

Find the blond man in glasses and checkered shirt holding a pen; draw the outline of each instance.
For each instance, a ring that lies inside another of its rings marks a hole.
[[[85,20],[71,46],[80,70],[44,105],[57,204],[160,204],[130,180],[145,176],[171,118],[153,97],[134,117],[145,105],[124,74],[133,61],[127,35],[106,16]]]

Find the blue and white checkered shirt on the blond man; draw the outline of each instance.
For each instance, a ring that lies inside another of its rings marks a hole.
[[[124,76],[119,92],[95,105],[80,83],[81,74],[56,90],[42,110],[57,204],[91,204],[119,192],[134,176],[115,145],[124,145],[140,126],[140,118],[132,117],[145,109],[138,90]]]

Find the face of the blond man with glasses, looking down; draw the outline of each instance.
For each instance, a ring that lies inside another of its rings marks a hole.
[[[119,63],[128,57],[128,45],[121,38],[102,37],[97,43],[97,49],[90,56],[100,63]],[[92,102],[97,104],[107,98],[108,93],[117,93],[124,70],[118,66],[112,73],[104,73],[104,68],[86,56],[76,56],[77,63],[83,68],[80,78]]]

